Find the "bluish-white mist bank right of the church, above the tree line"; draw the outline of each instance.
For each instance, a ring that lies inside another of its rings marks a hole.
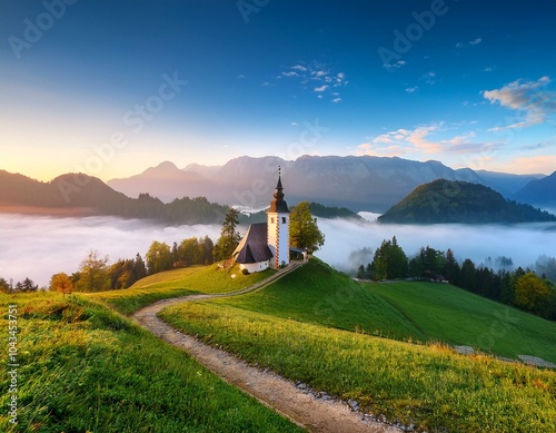
[[[458,262],[470,258],[476,265],[487,264],[488,257],[495,262],[497,257],[505,256],[513,259],[515,267],[529,266],[534,269],[539,256],[556,256],[554,223],[416,226],[318,219],[318,225],[326,235],[326,243],[317,255],[346,272],[357,269],[361,264],[367,265],[381,242],[393,236],[409,258],[427,245],[444,252],[451,248]],[[488,263],[488,266],[493,264]]]

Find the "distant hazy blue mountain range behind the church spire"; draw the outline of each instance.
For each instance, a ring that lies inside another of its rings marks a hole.
[[[464,180],[488,186],[506,198],[556,207],[556,188],[546,186],[556,173],[513,175],[469,168],[451,169],[439,161],[398,157],[302,156],[294,161],[278,157],[231,159],[224,166],[189,165],[179,169],[166,161],[143,173],[112,179],[108,185],[128,196],[149,193],[163,201],[203,196],[224,205],[247,208],[268,206],[281,168],[286,199],[318,201],[351,210],[384,213],[419,185],[436,180]]]

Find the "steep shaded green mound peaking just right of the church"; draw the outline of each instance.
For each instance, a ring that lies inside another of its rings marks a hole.
[[[427,339],[388,302],[318,259],[311,259],[264,291],[214,302],[340,329],[398,339]]]

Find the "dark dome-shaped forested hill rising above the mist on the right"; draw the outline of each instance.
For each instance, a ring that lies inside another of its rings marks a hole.
[[[556,216],[506,200],[483,185],[446,179],[417,187],[378,218],[396,224],[555,222]]]

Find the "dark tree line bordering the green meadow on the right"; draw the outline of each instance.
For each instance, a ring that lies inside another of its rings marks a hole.
[[[508,257],[499,257],[498,262],[506,267],[513,265]],[[496,272],[492,267],[476,265],[469,258],[459,264],[451,249],[441,252],[429,246],[421,247],[415,257],[408,258],[394,236],[391,240],[383,240],[375,250],[371,263],[359,266],[357,277],[374,281],[413,278],[446,282],[479,296],[556,321],[556,285],[547,277],[547,272],[556,269],[556,258],[544,257],[537,268],[544,270],[540,276],[535,270],[520,266],[514,270],[503,267]]]

